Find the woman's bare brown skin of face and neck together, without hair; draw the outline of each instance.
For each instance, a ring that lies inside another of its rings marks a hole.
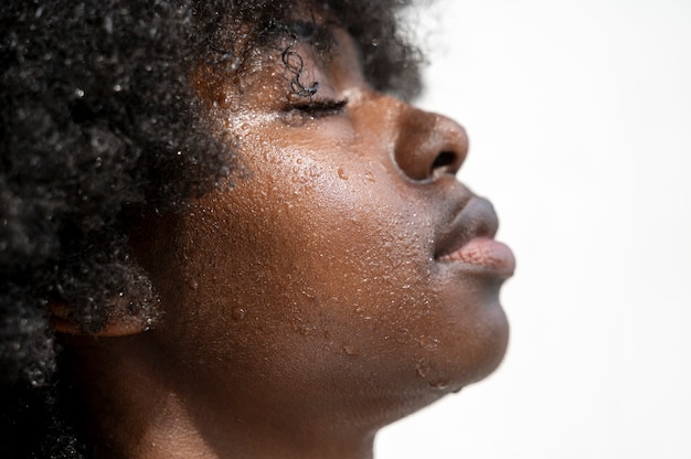
[[[464,129],[373,92],[334,38],[328,60],[299,44],[311,98],[278,52],[240,83],[194,75],[246,173],[132,231],[151,330],[56,321],[97,457],[371,458],[379,428],[501,361],[513,258],[455,179]]]

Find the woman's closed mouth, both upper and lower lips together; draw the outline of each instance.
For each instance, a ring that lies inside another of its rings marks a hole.
[[[435,260],[477,275],[507,279],[513,275],[511,249],[495,239],[499,221],[489,201],[471,198],[437,237]]]

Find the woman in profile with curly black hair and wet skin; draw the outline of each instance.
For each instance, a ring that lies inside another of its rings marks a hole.
[[[368,458],[499,364],[404,2],[68,3],[2,7],[2,457]]]

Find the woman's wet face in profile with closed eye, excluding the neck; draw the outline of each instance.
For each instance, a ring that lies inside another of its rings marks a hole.
[[[209,406],[278,397],[383,424],[499,364],[513,258],[491,205],[455,179],[460,126],[373,92],[341,31],[328,60],[290,50],[300,73],[283,50],[240,83],[200,72],[241,172],[136,238],[164,311],[147,334],[177,367],[170,384]],[[318,83],[311,97],[296,75]]]

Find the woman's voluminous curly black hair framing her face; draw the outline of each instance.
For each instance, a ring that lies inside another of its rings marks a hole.
[[[247,51],[236,43],[261,49],[293,33],[280,24],[295,3],[328,10],[351,33],[375,89],[418,93],[405,0],[0,6],[0,457],[89,456],[61,393],[47,305],[68,305],[86,333],[104,327],[114,297],[156,320],[128,228],[221,186],[235,168],[233,141],[211,134],[191,72],[234,70]]]

